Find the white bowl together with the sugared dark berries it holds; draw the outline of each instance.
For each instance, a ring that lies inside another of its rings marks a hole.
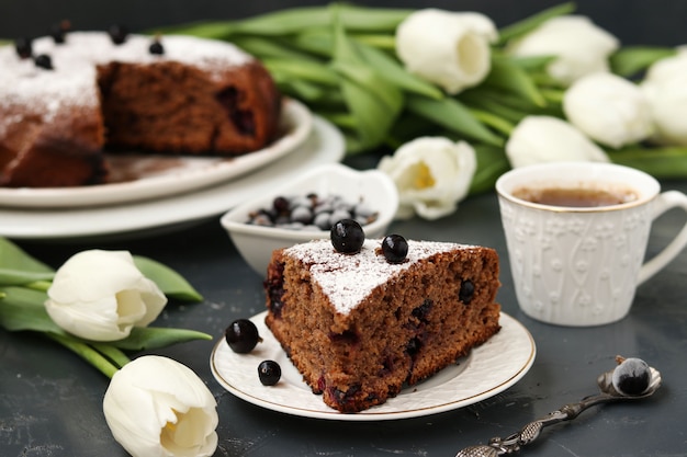
[[[334,163],[236,206],[221,224],[244,260],[264,275],[272,251],[329,239],[342,219],[357,220],[368,238],[383,237],[397,208],[398,193],[386,174]]]

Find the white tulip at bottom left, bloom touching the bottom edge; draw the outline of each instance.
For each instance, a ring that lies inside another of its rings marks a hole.
[[[138,357],[112,377],[102,409],[114,438],[134,457],[211,456],[216,401],[187,366]]]

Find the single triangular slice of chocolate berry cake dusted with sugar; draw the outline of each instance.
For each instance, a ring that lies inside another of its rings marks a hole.
[[[498,256],[489,248],[381,240],[337,252],[328,240],[274,251],[267,325],[315,393],[341,412],[384,403],[499,330]]]

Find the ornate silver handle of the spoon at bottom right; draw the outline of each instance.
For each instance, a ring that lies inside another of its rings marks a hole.
[[[609,393],[598,393],[586,397],[577,403],[565,404],[556,411],[550,412],[544,418],[530,422],[519,432],[514,433],[506,438],[494,437],[489,439],[488,444],[469,446],[459,452],[455,457],[497,457],[504,454],[516,453],[520,450],[521,446],[528,445],[537,439],[543,427],[575,419],[581,412],[587,408],[594,407],[595,404],[621,399],[622,397]]]

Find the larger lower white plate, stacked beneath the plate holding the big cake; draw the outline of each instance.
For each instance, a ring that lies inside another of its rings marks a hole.
[[[0,236],[36,240],[129,238],[153,228],[171,230],[177,225],[218,216],[256,195],[271,192],[282,180],[293,180],[318,164],[340,161],[346,150],[341,133],[317,116],[313,127],[293,153],[239,179],[195,192],[92,208],[0,207]]]

